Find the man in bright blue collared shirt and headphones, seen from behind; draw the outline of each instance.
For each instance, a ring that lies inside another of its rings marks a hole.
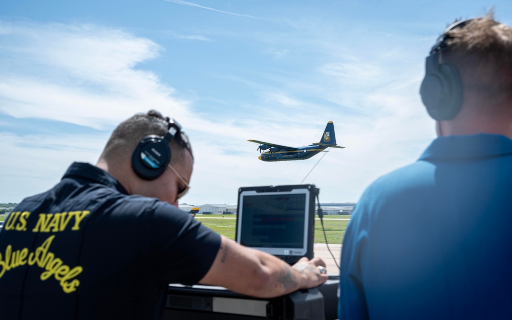
[[[340,319],[512,318],[512,28],[458,21],[425,65],[439,138],[357,203]]]

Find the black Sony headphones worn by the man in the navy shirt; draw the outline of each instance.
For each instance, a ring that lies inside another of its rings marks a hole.
[[[151,134],[145,136],[135,148],[132,155],[132,168],[145,180],[158,178],[170,162],[169,143],[181,132],[180,124],[167,118],[168,131],[164,136]]]

